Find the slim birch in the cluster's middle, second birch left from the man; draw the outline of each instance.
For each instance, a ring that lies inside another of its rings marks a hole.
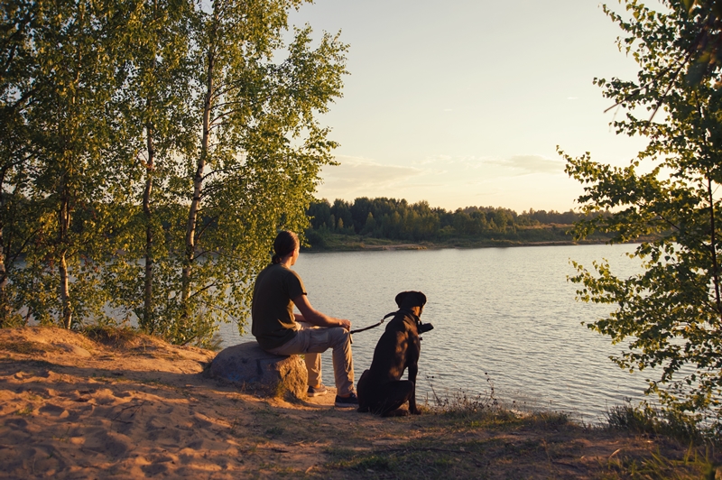
[[[166,331],[172,321],[163,310],[175,267],[167,234],[181,213],[171,190],[179,183],[182,156],[193,145],[190,28],[195,11],[186,0],[128,5],[120,104],[137,162],[127,178],[133,195],[116,217],[116,244],[124,254],[107,265],[105,285],[113,306],[125,317],[134,315],[138,326],[153,334]]]

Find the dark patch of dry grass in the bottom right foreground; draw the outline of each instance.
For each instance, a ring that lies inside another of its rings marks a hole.
[[[390,420],[384,435],[388,443],[366,432],[332,438],[334,447],[326,450],[329,476],[699,479],[714,467],[710,452],[699,448],[585,429],[555,413],[449,411]]]

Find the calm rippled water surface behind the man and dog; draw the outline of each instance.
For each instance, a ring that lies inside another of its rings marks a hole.
[[[613,272],[639,271],[626,257],[634,245],[565,245],[301,254],[293,267],[315,309],[349,318],[354,328],[376,323],[396,309],[400,291],[423,291],[421,319],[435,329],[423,335],[417,396],[432,392],[489,392],[520,408],[567,411],[596,422],[626,398],[643,398],[640,374],[609,360],[625,346],[582,322],[601,318],[613,306],[575,300],[567,282],[575,260],[591,268],[606,258]],[[371,364],[383,328],[354,335],[356,379]],[[248,328],[250,330],[250,328]],[[223,346],[239,337],[235,325],[221,329]],[[323,355],[324,383],[333,385],[330,352]],[[646,372],[645,372],[646,374]]]

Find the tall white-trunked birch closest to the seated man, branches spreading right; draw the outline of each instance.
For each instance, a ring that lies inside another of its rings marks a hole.
[[[220,320],[243,328],[276,230],[307,226],[319,168],[331,162],[335,143],[316,116],[340,96],[346,46],[324,34],[311,47],[307,26],[286,47],[288,10],[299,5],[219,0],[199,11],[199,136],[170,332],[179,343],[208,337]]]

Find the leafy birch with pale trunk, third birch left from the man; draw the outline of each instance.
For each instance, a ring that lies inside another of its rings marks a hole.
[[[121,169],[109,159],[121,158],[124,145],[113,110],[122,6],[36,5],[32,105],[23,121],[30,143],[28,201],[37,215],[26,265],[14,270],[13,281],[17,302],[33,318],[57,320],[64,328],[104,315],[97,269],[112,253],[108,207],[121,185]]]

